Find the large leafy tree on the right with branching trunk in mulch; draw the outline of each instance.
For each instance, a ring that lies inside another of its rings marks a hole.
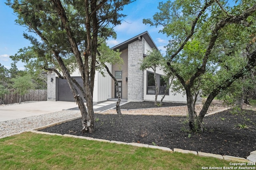
[[[167,69],[186,91],[190,129],[202,127],[212,100],[248,74],[256,65],[256,4],[242,0],[175,0],[160,2],[146,24],[163,27],[170,37]],[[194,111],[193,88],[200,84],[208,96],[199,115]]]

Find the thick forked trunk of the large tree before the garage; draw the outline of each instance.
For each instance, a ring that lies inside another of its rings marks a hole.
[[[97,20],[97,13],[96,13],[97,10],[95,10],[97,6],[96,0],[90,1],[90,5],[89,5],[89,1],[85,0],[85,13],[86,13],[85,24],[86,24],[87,46],[86,46],[86,51],[84,51],[84,63],[81,57],[81,53],[78,49],[76,39],[73,36],[73,31],[70,27],[70,24],[68,23],[69,21],[65,14],[65,10],[62,6],[61,1],[52,0],[52,2],[54,2],[55,4],[56,11],[58,12],[58,15],[60,16],[63,26],[66,30],[68,39],[70,41],[70,45],[72,47],[72,51],[75,55],[76,62],[78,64],[78,67],[84,82],[83,85],[84,85],[84,90],[86,95],[86,105],[87,105],[88,113],[86,112],[86,115],[82,115],[82,118],[86,117],[86,119],[82,120],[83,131],[85,132],[88,130],[89,133],[92,133],[94,131],[93,88],[94,88],[95,62],[96,62],[97,36],[98,36],[98,20]],[[82,110],[86,110],[86,109],[82,108],[81,113],[83,112]]]

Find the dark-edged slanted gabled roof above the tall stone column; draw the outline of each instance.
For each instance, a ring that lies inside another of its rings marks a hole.
[[[123,43],[120,43],[120,44],[112,47],[111,49],[113,49],[113,50],[119,49],[119,51],[123,51],[124,49],[128,48],[128,44],[130,44],[134,41],[137,41],[138,39],[141,39],[142,37],[147,41],[147,43],[150,45],[151,48],[158,49],[156,47],[156,44],[154,43],[154,41],[152,40],[152,38],[148,34],[148,31],[145,31],[144,33],[136,35],[135,37],[133,37],[131,39],[128,39],[127,41],[124,41]]]

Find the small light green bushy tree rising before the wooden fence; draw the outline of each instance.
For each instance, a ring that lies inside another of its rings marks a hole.
[[[14,83],[12,87],[16,88],[20,95],[26,94],[30,89],[35,89],[30,75],[12,78],[12,82]]]

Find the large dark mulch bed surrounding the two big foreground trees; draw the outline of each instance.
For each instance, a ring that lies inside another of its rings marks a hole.
[[[131,109],[131,107],[130,107]],[[204,118],[202,133],[188,132],[186,117],[95,114],[95,132],[81,133],[81,120],[62,123],[41,131],[98,139],[144,143],[170,149],[186,149],[246,158],[256,150],[256,111],[223,111]],[[248,129],[240,129],[238,125]],[[246,125],[246,126],[245,126]]]

